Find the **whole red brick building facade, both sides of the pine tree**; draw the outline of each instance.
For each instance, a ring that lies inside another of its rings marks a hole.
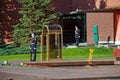
[[[55,7],[56,12],[66,14],[66,16],[81,17],[77,20],[63,18],[60,20],[64,33],[67,33],[65,35],[71,36],[69,34],[71,32],[74,34],[74,25],[77,24],[82,29],[81,42],[83,42],[83,38],[84,42],[93,43],[92,26],[98,25],[101,42],[107,41],[108,36],[110,36],[111,42],[120,43],[120,0],[52,0],[51,6]],[[9,44],[12,41],[13,25],[18,22],[20,8],[21,5],[16,0],[0,0],[0,30],[2,33],[0,37],[4,43]],[[101,9],[103,11],[99,11]],[[71,14],[72,11],[76,11],[76,13]],[[71,29],[69,30],[69,28]],[[72,39],[69,38],[69,40]]]

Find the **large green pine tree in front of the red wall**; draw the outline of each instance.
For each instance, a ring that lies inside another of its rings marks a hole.
[[[50,24],[57,18],[54,8],[50,7],[51,0],[18,0],[22,4],[19,11],[21,18],[14,26],[14,41],[17,46],[27,44],[32,31],[39,34],[43,25]],[[37,36],[40,37],[40,34]]]

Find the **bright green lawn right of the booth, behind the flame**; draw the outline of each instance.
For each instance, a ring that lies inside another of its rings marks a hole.
[[[93,58],[113,58],[113,48],[97,48],[94,49]],[[89,57],[90,47],[86,48],[74,48],[74,49],[63,49],[63,57],[65,59],[86,59]]]

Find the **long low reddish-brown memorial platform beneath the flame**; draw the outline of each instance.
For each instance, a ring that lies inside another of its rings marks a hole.
[[[97,59],[91,61],[92,65],[114,65],[113,59]],[[24,66],[86,66],[89,65],[87,60],[58,60],[58,61],[42,61],[42,62],[23,62]]]

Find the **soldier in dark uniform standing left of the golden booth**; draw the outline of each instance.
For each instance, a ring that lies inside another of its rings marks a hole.
[[[31,36],[32,39],[30,43],[30,61],[36,61],[37,39],[34,32],[32,32]]]

